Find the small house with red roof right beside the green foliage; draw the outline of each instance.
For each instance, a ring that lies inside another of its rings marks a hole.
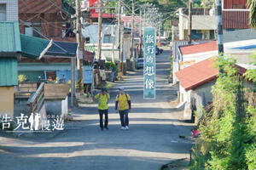
[[[201,114],[201,108],[212,102],[212,86],[218,76],[216,57],[204,59],[190,65],[175,74],[179,80],[179,102],[185,105],[184,118],[190,119],[193,111]],[[237,74],[242,76],[247,69],[236,65]],[[253,83],[247,82],[247,88],[253,89]]]

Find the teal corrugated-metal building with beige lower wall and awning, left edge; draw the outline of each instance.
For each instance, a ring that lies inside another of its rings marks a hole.
[[[34,41],[33,44],[29,42]],[[38,45],[38,46],[36,46]],[[18,85],[18,62],[21,55],[38,59],[51,42],[20,35],[18,22],[0,22],[0,115],[14,117],[15,86]]]

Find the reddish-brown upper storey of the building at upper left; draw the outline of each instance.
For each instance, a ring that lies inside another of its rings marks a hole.
[[[75,10],[61,0],[19,1],[20,33],[75,42],[73,20],[71,20],[73,14]]]

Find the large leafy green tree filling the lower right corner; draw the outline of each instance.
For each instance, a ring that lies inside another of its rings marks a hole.
[[[256,167],[256,97],[244,88],[245,77],[237,76],[236,60],[221,57],[224,68],[212,87],[212,109],[199,125],[191,169],[236,170]],[[255,74],[247,71],[246,78]],[[256,79],[250,79],[255,82]]]

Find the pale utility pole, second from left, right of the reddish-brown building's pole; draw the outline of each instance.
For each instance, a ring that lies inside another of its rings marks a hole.
[[[97,43],[97,59],[102,59],[102,0],[98,0],[98,43]]]

